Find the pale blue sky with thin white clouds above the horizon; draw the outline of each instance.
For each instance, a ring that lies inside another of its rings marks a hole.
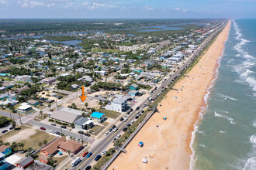
[[[256,0],[0,0],[1,19],[256,18]]]

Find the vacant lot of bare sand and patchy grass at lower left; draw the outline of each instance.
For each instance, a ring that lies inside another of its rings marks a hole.
[[[44,131],[38,131],[33,128],[27,128],[26,126],[21,126],[17,130],[10,131],[7,134],[3,134],[1,139],[4,142],[16,142],[16,143],[24,143],[24,149],[29,147],[33,149],[38,149],[40,146],[38,145],[43,140],[52,141],[56,138],[54,135],[47,134]]]

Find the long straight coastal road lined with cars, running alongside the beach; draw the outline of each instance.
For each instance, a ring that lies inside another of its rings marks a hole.
[[[168,80],[164,81],[164,83],[161,84],[161,86],[159,86],[157,88],[157,90],[154,91],[154,93],[150,94],[150,98],[154,99],[157,97],[158,93],[161,93],[162,90],[164,90],[165,87],[168,87],[168,85],[175,80],[178,75],[180,73],[182,73],[183,70],[185,70],[185,68],[187,66],[189,66],[190,63],[192,63],[192,60],[195,59],[196,56],[199,55],[199,53],[202,51],[202,49],[204,49],[208,43],[211,41],[211,39],[213,39],[214,36],[216,36],[216,34],[218,32],[220,32],[225,26],[227,25],[227,23],[225,23],[223,26],[220,27],[220,29],[217,29],[215,32],[213,32],[209,37],[206,38],[206,40],[202,43],[202,45],[195,51],[195,53],[192,53],[191,56],[189,56],[189,59],[187,59],[187,61],[172,75],[169,76]],[[145,107],[145,104],[149,103],[149,100],[144,100],[140,105],[140,110],[143,110]],[[137,115],[137,111],[138,110],[133,110],[133,112],[128,115],[128,120],[126,122],[121,122],[117,128],[118,131],[116,132],[110,132],[110,134],[108,136],[106,136],[105,138],[102,139],[102,141],[99,142],[98,145],[96,145],[95,147],[93,147],[89,152],[92,152],[92,156],[89,158],[82,158],[81,162],[74,166],[71,169],[85,169],[88,165],[91,165],[92,162],[94,162],[94,159],[97,155],[100,155],[102,151],[104,151],[113,141],[114,138],[116,138],[116,136],[120,133],[122,133],[123,128],[126,127],[127,124],[130,124],[130,121],[132,121],[136,115]]]

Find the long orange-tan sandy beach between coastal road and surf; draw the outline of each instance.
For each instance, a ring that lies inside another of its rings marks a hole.
[[[192,70],[175,84],[179,91],[171,90],[158,106],[159,113],[153,115],[126,147],[126,154],[120,154],[109,166],[112,169],[189,169],[194,124],[199,112],[205,106],[204,97],[216,74],[224,42],[230,30],[230,22],[220,32]],[[180,90],[182,88],[182,90]],[[177,97],[177,98],[175,98]],[[167,117],[164,121],[163,117]],[[156,127],[156,124],[159,127]],[[144,147],[138,146],[139,141]],[[148,163],[142,163],[147,158]]]

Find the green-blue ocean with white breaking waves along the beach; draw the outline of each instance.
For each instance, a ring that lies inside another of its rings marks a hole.
[[[191,169],[255,170],[256,19],[232,20],[205,100],[191,145]]]

